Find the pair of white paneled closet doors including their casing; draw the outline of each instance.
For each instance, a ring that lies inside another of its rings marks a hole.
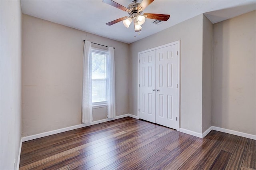
[[[138,53],[140,119],[179,130],[180,42]],[[154,91],[152,91],[154,90]]]

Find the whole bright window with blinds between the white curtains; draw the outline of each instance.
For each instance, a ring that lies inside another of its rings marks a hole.
[[[92,104],[107,104],[106,99],[106,59],[108,51],[92,48]]]

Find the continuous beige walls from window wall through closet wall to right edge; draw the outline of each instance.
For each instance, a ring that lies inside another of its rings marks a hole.
[[[84,39],[116,47],[116,115],[137,115],[138,52],[180,40],[180,127],[256,134],[255,11],[214,26],[201,14],[130,45],[23,16],[23,136],[81,123]]]

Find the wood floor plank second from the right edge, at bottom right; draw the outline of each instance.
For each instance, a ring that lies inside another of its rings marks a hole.
[[[239,137],[226,170],[241,169],[248,138]]]

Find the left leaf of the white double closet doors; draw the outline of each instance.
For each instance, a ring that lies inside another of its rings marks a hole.
[[[156,123],[155,119],[155,59],[156,51],[149,51],[139,55],[139,109],[140,119]]]

